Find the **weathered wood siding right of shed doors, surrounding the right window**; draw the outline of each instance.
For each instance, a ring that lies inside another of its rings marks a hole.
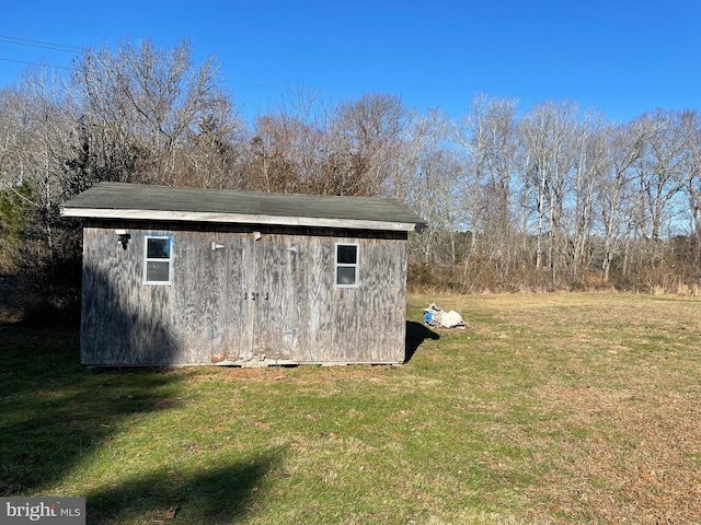
[[[301,237],[299,359],[327,363],[404,361],[406,234],[332,232]],[[379,235],[379,238],[378,238]],[[358,243],[358,288],[334,288],[336,243]]]

